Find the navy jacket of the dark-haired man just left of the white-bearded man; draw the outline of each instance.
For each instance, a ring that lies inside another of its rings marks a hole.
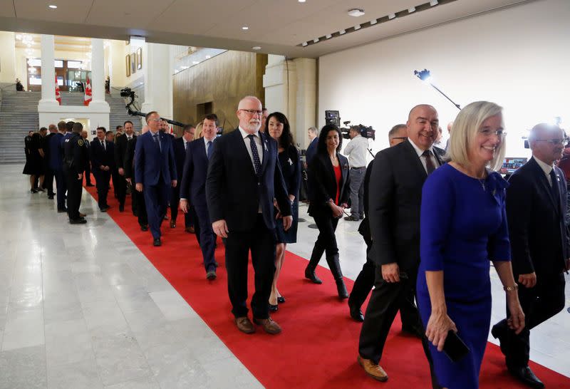
[[[212,147],[214,147],[214,143],[212,143]],[[190,142],[186,152],[184,172],[180,184],[180,198],[190,200],[190,204],[194,206],[205,207],[207,174],[206,146],[204,139],[199,138]]]

